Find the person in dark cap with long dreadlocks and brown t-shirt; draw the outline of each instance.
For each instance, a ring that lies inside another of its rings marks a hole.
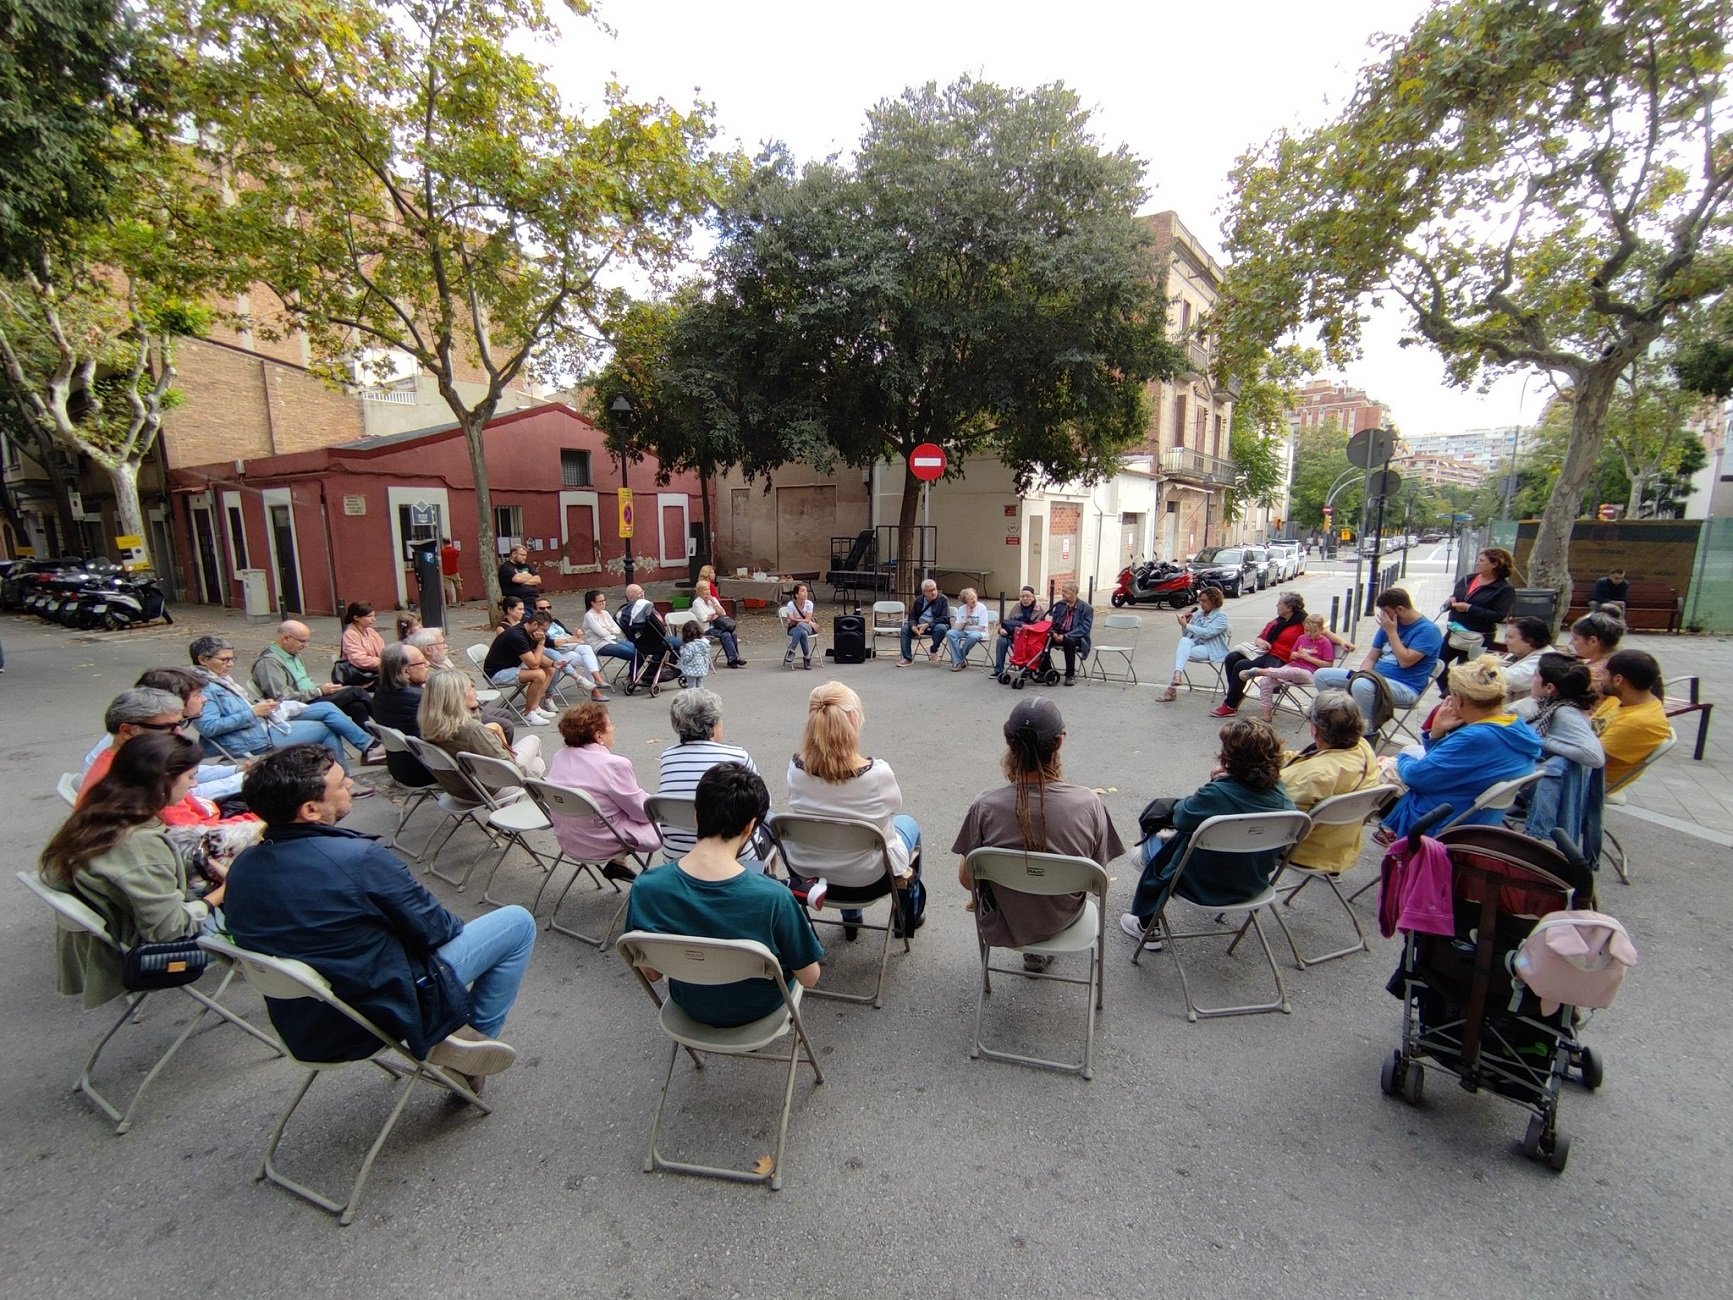
[[[974,849],[1064,853],[1102,867],[1125,853],[1100,796],[1064,780],[1059,763],[1064,738],[1066,721],[1059,705],[1045,695],[1017,700],[1005,719],[1005,757],[1000,761],[1009,785],[976,797],[951,844],[951,853],[962,855],[957,879],[964,889],[974,889],[969,879],[969,853]],[[1083,894],[1040,896],[983,886],[976,929],[983,943],[995,948],[1022,948],[1066,929],[1083,913]],[[1045,971],[1052,960],[1036,953],[1022,957],[1031,971]]]

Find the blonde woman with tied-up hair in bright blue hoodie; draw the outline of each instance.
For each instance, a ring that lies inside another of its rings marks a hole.
[[[1379,759],[1385,775],[1407,787],[1385,816],[1379,839],[1405,835],[1425,813],[1451,804],[1457,813],[1492,785],[1527,777],[1541,761],[1541,737],[1504,705],[1504,669],[1497,655],[1454,664],[1451,693],[1431,718],[1423,754]],[[1503,811],[1487,809],[1470,822],[1496,825]]]

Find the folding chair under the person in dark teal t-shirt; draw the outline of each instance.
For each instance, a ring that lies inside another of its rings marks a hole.
[[[813,1082],[823,1083],[825,1071],[818,1066],[818,1054],[811,1038],[806,1037],[806,1024],[801,1021],[801,985],[789,988],[783,979],[782,964],[769,948],[754,939],[700,939],[688,934],[650,934],[634,929],[622,934],[615,945],[633,974],[645,986],[650,1000],[657,1004],[660,1014],[657,1026],[672,1042],[667,1054],[667,1073],[662,1076],[662,1092],[655,1102],[655,1118],[650,1120],[650,1151],[645,1156],[645,1173],[669,1170],[671,1173],[695,1173],[705,1179],[728,1179],[731,1182],[768,1182],[771,1191],[782,1191],[782,1156],[789,1146],[789,1111],[794,1108],[794,1080],[802,1064],[813,1068]],[[719,1030],[704,1024],[683,1012],[672,998],[664,1000],[655,986],[645,978],[645,969],[659,971],[669,979],[688,985],[735,985],[742,979],[769,979],[782,990],[782,1009],[769,1016],[761,1016],[747,1024]],[[763,1052],[778,1038],[789,1038],[789,1056],[782,1057]],[[667,1108],[667,1085],[674,1080],[674,1063],[679,1050],[686,1049],[691,1063],[704,1068],[698,1052],[716,1056],[737,1056],[747,1061],[783,1061],[789,1063],[789,1080],[782,1090],[782,1116],[776,1121],[776,1153],[771,1156],[768,1170],[717,1168],[714,1165],[688,1165],[667,1160],[657,1147],[662,1135],[662,1111]],[[806,1049],[806,1054],[801,1054]]]

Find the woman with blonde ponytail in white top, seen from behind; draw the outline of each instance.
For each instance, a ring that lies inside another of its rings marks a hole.
[[[920,827],[903,813],[903,790],[884,759],[860,751],[866,711],[861,697],[841,681],[815,686],[806,699],[806,731],[801,752],[789,759],[789,811],[802,816],[846,816],[872,822],[884,830],[891,849],[891,872],[898,877],[901,903],[899,927],[920,929],[927,908],[927,889],[920,882]],[[879,855],[804,853],[801,867],[818,868],[811,877],[790,872],[789,884],[808,898],[809,907],[828,900],[842,907],[847,922],[844,938],[854,938],[860,908],[846,907],[882,896],[877,887],[884,875]],[[820,881],[823,889],[818,889]]]

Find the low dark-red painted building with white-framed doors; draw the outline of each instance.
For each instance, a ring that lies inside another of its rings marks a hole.
[[[513,511],[544,591],[624,584],[619,466],[594,425],[539,406],[494,419],[484,445],[494,510]],[[688,525],[702,520],[697,477],[657,485],[657,471],[653,458],[631,466],[639,581],[685,577]],[[239,570],[253,569],[274,610],[333,614],[355,600],[388,610],[416,596],[400,544],[432,529],[463,549],[466,600],[485,593],[484,563],[499,565],[478,551],[470,454],[456,428],[187,466],[172,478],[191,600],[241,605]]]

